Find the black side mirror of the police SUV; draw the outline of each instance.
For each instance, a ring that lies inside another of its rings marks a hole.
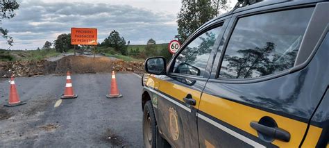
[[[166,73],[166,59],[152,57],[145,60],[145,71],[149,74],[161,75]]]

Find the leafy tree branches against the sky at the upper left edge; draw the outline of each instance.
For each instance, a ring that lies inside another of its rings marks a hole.
[[[12,1],[5,1],[5,0],[0,0],[0,24],[2,23],[3,19],[11,19],[12,17],[15,17],[15,10],[19,8],[19,4],[17,1],[12,0]],[[12,37],[8,35],[8,30],[5,28],[2,28],[0,26],[0,35],[2,38],[5,38],[7,40],[7,43],[12,46],[12,43],[14,40]]]

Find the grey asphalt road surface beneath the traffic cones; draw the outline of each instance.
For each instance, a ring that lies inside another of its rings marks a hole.
[[[65,99],[66,76],[17,78],[21,101],[8,100],[8,79],[0,80],[0,147],[142,147],[140,77],[116,74],[123,98],[106,99],[111,74],[73,74],[77,99]]]

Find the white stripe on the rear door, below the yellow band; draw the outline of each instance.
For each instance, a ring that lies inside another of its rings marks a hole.
[[[235,131],[233,131],[231,129],[228,129],[226,126],[223,126],[223,125],[221,125],[221,124],[219,124],[217,122],[214,122],[214,120],[210,120],[208,117],[205,117],[204,115],[201,115],[199,113],[196,113],[196,115],[198,117],[200,117],[202,120],[205,120],[205,122],[208,122],[208,123],[216,126],[217,128],[225,131],[226,133],[229,133],[230,135],[233,135],[235,138],[238,138],[239,140],[242,140],[242,141],[248,143],[249,145],[251,145],[253,147],[265,147],[264,145],[261,145],[258,142],[255,142],[255,141],[253,141],[253,140],[251,140],[249,138],[246,138],[244,135],[241,135],[241,134],[239,134],[239,133],[237,133],[237,132],[235,132]]]

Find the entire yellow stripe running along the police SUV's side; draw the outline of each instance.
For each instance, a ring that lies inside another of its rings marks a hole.
[[[227,99],[222,99],[220,97],[216,97],[210,94],[203,93],[202,104],[199,105],[201,100],[201,92],[193,90],[191,88],[186,88],[182,85],[163,81],[155,77],[150,76],[150,78],[147,81],[148,85],[155,85],[155,83],[161,83],[159,88],[161,92],[180,101],[183,101],[183,98],[186,97],[187,93],[192,94],[192,97],[196,100],[196,106],[199,106],[199,110],[201,110],[203,113],[211,115],[212,117],[215,117],[223,122],[233,125],[237,127],[237,129],[241,129],[246,133],[255,135],[256,137],[258,137],[257,131],[251,128],[250,122],[258,122],[264,116],[272,117],[277,122],[278,127],[280,127],[281,129],[285,129],[291,134],[289,142],[283,142],[280,140],[274,140],[273,142],[271,142],[273,145],[277,145],[279,147],[296,147],[300,145],[307,128],[307,123],[305,122],[300,122],[289,117],[283,117],[274,113],[269,113],[264,110],[245,106],[243,104],[239,104],[234,101],[229,101]],[[159,94],[161,93],[159,92]],[[169,98],[165,97],[165,99]],[[312,138],[306,138],[303,147],[314,147],[317,144],[317,141],[319,140],[321,130],[321,128],[311,125],[309,134],[307,135]],[[251,143],[253,142],[251,141]]]

